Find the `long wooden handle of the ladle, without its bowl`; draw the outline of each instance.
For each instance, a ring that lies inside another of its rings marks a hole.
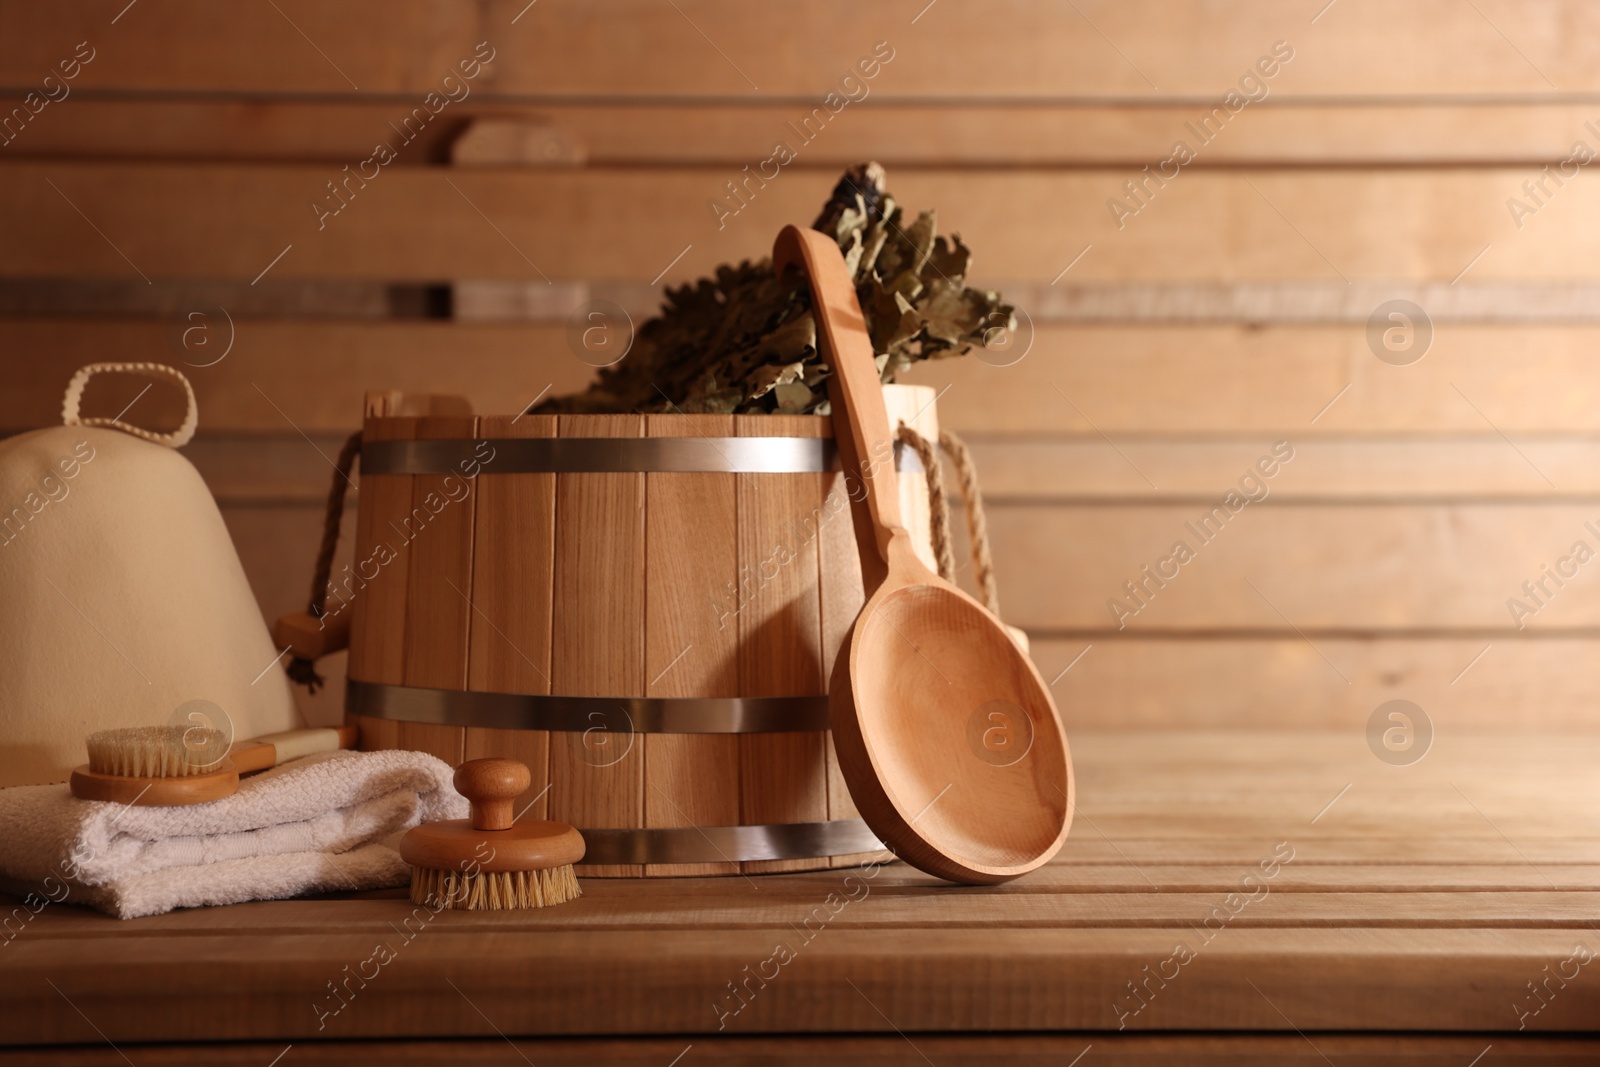
[[[883,382],[872,360],[872,338],[856,301],[856,285],[834,238],[797,226],[786,226],[778,235],[773,267],[779,274],[787,267],[803,267],[811,283],[818,341],[834,368],[832,382],[837,389],[834,437],[838,438],[840,454],[846,458],[846,477],[851,474],[851,461],[859,462],[878,558],[886,563],[894,534],[907,539],[909,534],[901,525],[894,438],[890,434],[888,408],[883,406]],[[846,488],[851,498],[859,493],[854,486]]]

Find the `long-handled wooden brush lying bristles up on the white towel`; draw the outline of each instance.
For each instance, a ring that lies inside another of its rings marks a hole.
[[[227,744],[202,726],[122,726],[88,736],[90,761],[72,771],[72,795],[141,808],[198,805],[238,792],[238,776],[314,752],[355,747],[355,726],[288,729]]]

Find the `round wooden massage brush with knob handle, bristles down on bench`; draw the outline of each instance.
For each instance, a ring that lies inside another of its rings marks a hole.
[[[434,909],[507,910],[563,904],[582,894],[573,864],[584,838],[565,822],[515,817],[533,776],[517,760],[469,760],[456,792],[470,819],[424,822],[400,838],[411,864],[411,902]]]

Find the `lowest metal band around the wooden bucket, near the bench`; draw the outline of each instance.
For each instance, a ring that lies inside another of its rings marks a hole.
[[[877,853],[883,841],[861,819],[702,825],[653,830],[581,830],[584,864],[717,864],[816,859]]]

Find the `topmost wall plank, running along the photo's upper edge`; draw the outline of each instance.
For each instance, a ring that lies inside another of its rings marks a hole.
[[[106,42],[82,90],[422,94],[477,42],[496,58],[480,90],[536,96],[786,96],[821,99],[890,42],[894,59],[872,88],[896,98],[1221,98],[1274,42],[1294,59],[1278,93],[1386,98],[1547,94],[1597,88],[1595,16],[1578,0],[1483,0],[1482,14],[1445,0],[1395,8],[1346,0],[1282,8],[1203,0],[1074,8],[1022,0],[917,0],[862,10],[808,0],[774,34],[766,13],[733,0],[590,8],[546,0],[440,6],[358,0],[326,8],[282,0],[222,18],[203,0],[146,0],[118,18],[115,0],[21,8],[0,50],[6,85],[27,85]],[[117,19],[115,24],[112,19]],[[1315,21],[1314,21],[1315,19]],[[1418,50],[1414,42],[1427,40]],[[66,53],[62,51],[66,50]],[[958,62],[949,56],[960,56]]]

